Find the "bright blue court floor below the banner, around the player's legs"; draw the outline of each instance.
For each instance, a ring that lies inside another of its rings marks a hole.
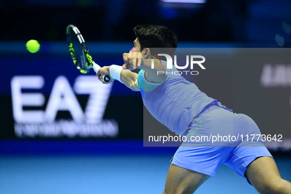
[[[174,154],[174,153],[173,153]],[[2,155],[0,194],[162,194],[172,154]],[[291,181],[290,158],[275,157]],[[257,194],[222,165],[197,194]]]

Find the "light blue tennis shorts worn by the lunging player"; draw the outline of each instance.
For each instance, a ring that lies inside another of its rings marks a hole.
[[[256,123],[247,115],[232,113],[219,106],[210,106],[196,117],[188,129],[191,135],[241,135],[260,134]],[[184,142],[175,153],[171,163],[182,168],[214,176],[221,164],[226,164],[242,177],[246,167],[256,158],[268,156],[270,152],[261,139],[258,141],[226,141],[223,146],[194,146]],[[199,144],[197,144],[199,145]],[[201,144],[202,145],[202,144]],[[206,145],[206,144],[204,144]]]

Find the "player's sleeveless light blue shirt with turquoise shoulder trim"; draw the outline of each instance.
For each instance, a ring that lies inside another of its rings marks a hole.
[[[166,62],[162,61],[166,67]],[[226,110],[216,99],[208,97],[198,87],[181,75],[175,75],[176,67],[167,69],[167,78],[162,83],[151,83],[141,69],[137,83],[142,100],[148,111],[163,125],[176,134],[186,135],[192,120],[211,105]],[[232,110],[229,110],[232,111]]]

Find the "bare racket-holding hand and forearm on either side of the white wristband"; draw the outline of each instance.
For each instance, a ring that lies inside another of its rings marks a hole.
[[[101,67],[98,72],[96,73],[98,79],[103,82],[103,84],[106,84],[102,78],[102,75],[109,75],[111,77],[110,82],[113,82],[115,79],[112,78],[110,75],[110,66],[103,66]],[[127,87],[129,87],[133,91],[139,91],[138,85],[137,85],[137,73],[133,73],[128,69],[121,70],[120,73],[120,81],[124,83]],[[110,83],[109,82],[109,83]]]

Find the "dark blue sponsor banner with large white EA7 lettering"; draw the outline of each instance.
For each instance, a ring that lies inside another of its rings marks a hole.
[[[139,138],[123,133],[142,125],[139,92],[118,81],[102,84],[93,69],[80,73],[64,42],[40,44],[39,52],[29,53],[25,42],[0,43],[5,67],[0,73],[0,138]],[[90,45],[94,61],[123,65],[122,51],[129,51],[129,45],[108,45]],[[140,111],[138,106],[128,108],[140,117],[131,125],[120,114],[124,99],[140,104]]]

